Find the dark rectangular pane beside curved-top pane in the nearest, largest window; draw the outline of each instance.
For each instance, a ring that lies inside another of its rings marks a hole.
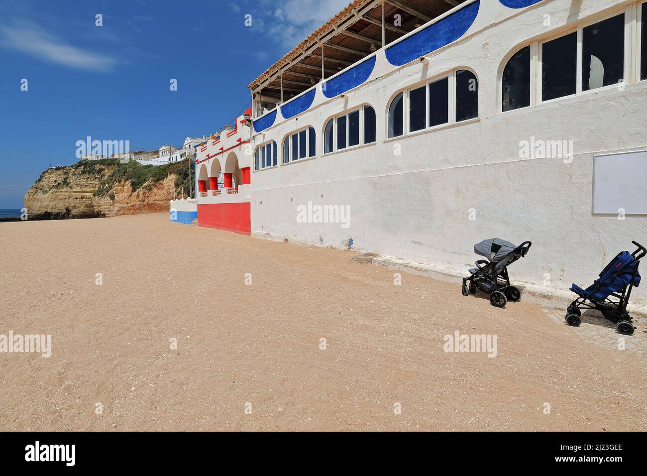
[[[575,94],[577,33],[547,41],[542,45],[542,100]]]

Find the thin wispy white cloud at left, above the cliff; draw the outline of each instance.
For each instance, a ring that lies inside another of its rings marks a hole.
[[[115,58],[68,45],[28,23],[0,27],[0,45],[50,63],[88,71],[111,71],[117,63]]]

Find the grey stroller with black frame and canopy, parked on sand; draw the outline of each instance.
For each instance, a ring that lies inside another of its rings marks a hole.
[[[483,240],[474,245],[474,253],[485,256],[487,260],[478,260],[476,268],[470,269],[470,277],[463,279],[464,296],[476,293],[480,289],[489,293],[490,304],[503,308],[511,301],[521,299],[521,291],[510,286],[507,267],[519,258],[523,258],[531,247],[531,242],[523,242],[516,246],[500,238]]]

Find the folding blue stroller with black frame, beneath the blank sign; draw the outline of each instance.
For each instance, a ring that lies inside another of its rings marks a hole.
[[[635,327],[627,312],[627,302],[633,286],[638,286],[641,282],[638,266],[641,258],[647,255],[647,249],[636,242],[631,243],[638,249],[633,253],[622,251],[613,258],[591,286],[586,289],[576,284],[571,286],[571,291],[579,297],[566,310],[566,322],[570,326],[579,326],[582,322],[581,309],[597,309],[606,319],[616,324],[615,328],[620,334],[633,334]]]

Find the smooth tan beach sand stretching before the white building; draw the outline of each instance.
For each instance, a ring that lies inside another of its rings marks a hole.
[[[0,334],[52,335],[49,358],[0,354],[1,431],[647,429],[640,357],[523,297],[168,214],[0,223],[0,244]],[[497,356],[444,352],[457,330]]]

